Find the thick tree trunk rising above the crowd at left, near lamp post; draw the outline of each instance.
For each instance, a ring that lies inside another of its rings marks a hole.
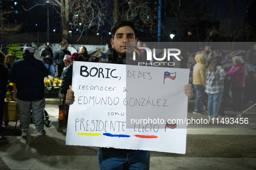
[[[61,16],[62,16],[62,41],[68,40],[68,31],[69,31],[69,15],[70,8],[68,8],[69,0],[61,0]]]

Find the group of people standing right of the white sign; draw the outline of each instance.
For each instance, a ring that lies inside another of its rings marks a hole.
[[[233,57],[233,66],[229,71],[223,66],[223,58],[214,56],[208,44],[196,53],[195,60],[197,63],[193,67],[193,85],[196,91],[194,114],[203,115],[206,111],[205,93],[208,96],[208,117],[214,120],[222,118],[221,116],[242,117],[243,105],[248,101],[253,101],[253,105],[256,103],[256,44],[248,50],[246,61],[239,56]],[[229,98],[230,87],[232,110],[225,114],[224,108]]]

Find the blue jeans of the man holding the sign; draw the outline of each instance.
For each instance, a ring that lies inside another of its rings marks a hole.
[[[122,154],[111,148],[99,148],[98,161],[100,170],[149,170],[149,151],[136,150]]]

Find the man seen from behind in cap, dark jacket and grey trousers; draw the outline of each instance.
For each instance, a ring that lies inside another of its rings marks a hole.
[[[45,134],[43,110],[45,108],[44,77],[48,69],[34,57],[32,47],[23,49],[23,59],[16,60],[9,71],[9,79],[16,83],[17,110],[19,112],[19,127],[21,135],[26,136],[30,125],[32,110],[33,123],[37,135]]]

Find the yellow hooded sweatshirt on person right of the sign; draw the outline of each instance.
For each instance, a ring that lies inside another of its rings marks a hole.
[[[193,84],[204,85],[206,84],[206,66],[204,66],[204,53],[197,53],[195,56],[196,64],[193,68]]]

